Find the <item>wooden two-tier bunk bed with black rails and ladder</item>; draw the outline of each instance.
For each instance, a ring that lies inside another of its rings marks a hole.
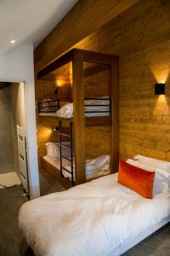
[[[61,109],[63,102],[56,96],[54,101],[43,101],[38,103],[39,122],[55,122],[55,131],[59,134],[60,164],[54,166],[49,163],[47,157],[42,157],[42,168],[50,172],[59,180],[65,188],[70,188],[75,184],[87,181],[85,166],[85,126],[111,126],[111,165],[110,173],[117,172],[118,166],[118,57],[91,52],[82,49],[71,49],[65,55],[59,57],[48,67],[44,67],[37,73],[37,79],[57,79],[59,68],[71,67],[69,72],[71,96],[69,101],[65,101],[67,107],[74,109],[65,118]],[[68,69],[68,68],[65,68]],[[110,96],[85,97],[83,79],[87,76],[108,70],[110,75]],[[65,106],[65,105],[64,105]],[[61,108],[60,108],[61,107]],[[65,107],[64,107],[65,108]],[[69,132],[63,132],[63,127],[69,127]],[[113,134],[114,133],[114,134]],[[65,159],[62,154],[63,138],[70,141],[71,157]],[[74,157],[73,157],[74,147]],[[71,170],[65,168],[64,160],[71,162]],[[70,179],[65,179],[64,172],[71,175]],[[109,173],[109,172],[108,172]],[[107,174],[108,174],[107,173]],[[102,175],[103,176],[103,175]],[[91,179],[89,179],[91,180]]]

